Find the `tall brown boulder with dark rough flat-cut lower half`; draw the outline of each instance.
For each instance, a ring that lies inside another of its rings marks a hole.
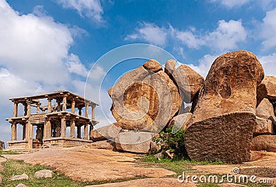
[[[185,145],[191,159],[250,160],[256,90],[263,78],[262,65],[252,52],[229,52],[215,60],[186,128]]]

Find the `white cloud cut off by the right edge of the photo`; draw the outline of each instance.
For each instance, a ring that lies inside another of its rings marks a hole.
[[[264,41],[262,45],[264,49],[273,48],[276,46],[276,8],[274,10],[266,12],[266,17],[262,23],[262,38]]]

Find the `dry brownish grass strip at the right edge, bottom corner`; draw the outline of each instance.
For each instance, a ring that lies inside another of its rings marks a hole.
[[[276,177],[276,169],[275,168],[246,168],[240,171],[243,175],[256,175],[257,177],[268,177],[273,178]]]

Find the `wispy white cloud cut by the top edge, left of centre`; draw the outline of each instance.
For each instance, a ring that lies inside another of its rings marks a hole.
[[[99,23],[103,22],[103,8],[99,0],[57,0],[57,3],[63,8],[77,10],[82,17],[84,14]]]

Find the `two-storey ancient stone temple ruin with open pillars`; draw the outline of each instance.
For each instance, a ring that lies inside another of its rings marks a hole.
[[[95,121],[98,105],[94,102],[67,90],[10,100],[14,103],[13,117],[6,119],[11,124],[10,149],[68,147],[92,142],[90,132],[98,123]],[[19,111],[19,104],[23,111]],[[18,125],[23,127],[22,139],[17,139]]]

